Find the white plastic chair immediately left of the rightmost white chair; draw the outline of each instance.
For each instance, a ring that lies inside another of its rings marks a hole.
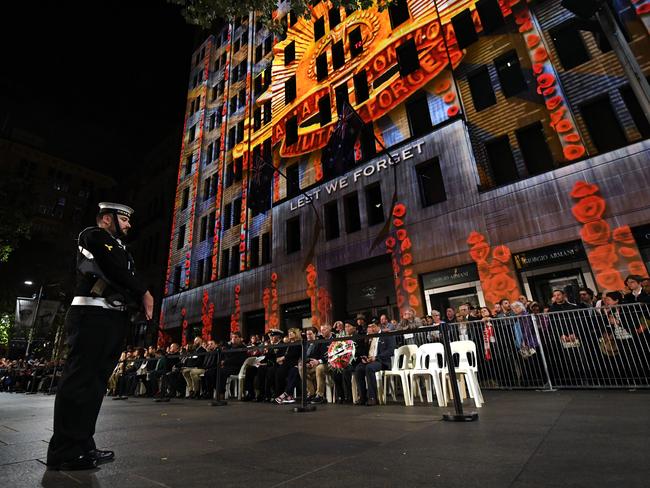
[[[444,389],[442,388],[442,373],[447,366],[445,361],[445,348],[440,342],[431,344],[422,344],[415,355],[415,368],[408,370],[410,378],[410,401],[413,405],[415,400],[415,391],[417,388],[420,401],[422,401],[422,391],[420,390],[419,377],[424,377],[427,402],[432,403],[431,383],[436,392],[436,399],[439,407],[447,405]]]

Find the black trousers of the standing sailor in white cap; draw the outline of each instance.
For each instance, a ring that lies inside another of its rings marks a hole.
[[[108,378],[120,357],[126,326],[126,312],[70,307],[66,316],[69,352],[54,402],[48,464],[95,449],[95,423]]]

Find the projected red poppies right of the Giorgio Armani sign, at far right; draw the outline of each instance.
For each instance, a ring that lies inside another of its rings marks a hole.
[[[598,185],[577,181],[570,193],[571,198],[577,200],[571,212],[582,224],[580,237],[598,287],[602,291],[622,290],[626,275],[646,275],[647,270],[630,226],[612,229],[605,220],[607,202],[599,192]]]

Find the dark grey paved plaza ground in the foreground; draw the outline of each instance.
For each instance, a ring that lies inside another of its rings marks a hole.
[[[53,397],[0,393],[5,487],[648,487],[650,392],[486,392],[478,422],[442,409],[107,400],[115,462],[46,471]]]

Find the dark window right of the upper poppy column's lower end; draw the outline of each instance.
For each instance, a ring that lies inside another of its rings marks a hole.
[[[580,113],[598,152],[612,151],[627,144],[607,95],[581,104]]]

